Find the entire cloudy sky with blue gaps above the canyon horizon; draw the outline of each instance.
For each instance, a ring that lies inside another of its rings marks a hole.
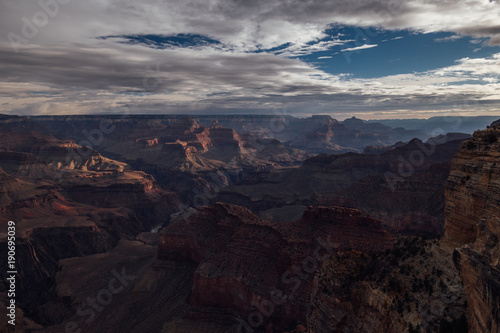
[[[0,113],[500,116],[498,0],[0,1]]]

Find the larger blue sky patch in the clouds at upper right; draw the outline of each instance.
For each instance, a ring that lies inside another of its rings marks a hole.
[[[411,31],[382,31],[354,27],[327,30],[344,40],[328,51],[299,57],[330,74],[350,73],[357,78],[424,72],[452,66],[457,59],[486,58],[499,47],[485,46],[484,40],[457,38],[453,33],[415,33]],[[376,46],[374,46],[376,45]],[[371,46],[362,48],[363,46]],[[345,51],[346,49],[355,49]]]

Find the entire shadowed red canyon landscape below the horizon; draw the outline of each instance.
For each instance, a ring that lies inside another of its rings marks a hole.
[[[0,117],[18,328],[498,332],[499,125]]]

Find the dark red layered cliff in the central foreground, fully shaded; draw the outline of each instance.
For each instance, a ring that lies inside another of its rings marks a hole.
[[[305,323],[314,271],[328,253],[381,251],[392,242],[380,221],[355,209],[309,208],[284,224],[217,203],[162,230],[158,259],[159,267],[172,261],[198,265],[192,307],[235,310],[246,318],[265,304],[269,313],[262,310],[261,328],[280,331]]]

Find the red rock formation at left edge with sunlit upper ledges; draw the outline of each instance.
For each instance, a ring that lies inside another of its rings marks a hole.
[[[78,156],[82,147],[74,143],[16,135],[0,138],[0,227],[16,223],[18,299],[33,316],[59,260],[104,252],[162,225],[178,201],[150,175],[94,150]],[[6,241],[1,233],[3,266]]]

